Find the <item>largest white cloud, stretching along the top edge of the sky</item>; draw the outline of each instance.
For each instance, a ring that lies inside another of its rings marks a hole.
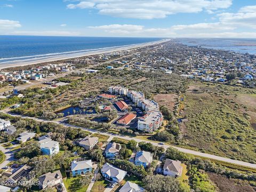
[[[68,9],[97,9],[113,17],[153,19],[176,13],[198,13],[226,9],[232,0],[87,0],[68,4]]]

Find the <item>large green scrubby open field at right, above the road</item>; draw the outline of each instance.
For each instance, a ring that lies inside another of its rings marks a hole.
[[[250,115],[255,93],[255,89],[220,84],[191,84],[185,97],[188,122],[181,129],[185,145],[255,163],[256,131]],[[247,97],[248,103],[240,97]]]

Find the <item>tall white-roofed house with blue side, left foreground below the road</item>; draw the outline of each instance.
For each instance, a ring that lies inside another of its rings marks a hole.
[[[43,155],[56,155],[60,151],[59,142],[53,141],[50,138],[42,139],[39,141],[40,149]]]

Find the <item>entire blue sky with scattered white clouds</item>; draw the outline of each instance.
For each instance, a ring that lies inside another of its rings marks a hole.
[[[0,0],[0,34],[256,37],[255,0]]]

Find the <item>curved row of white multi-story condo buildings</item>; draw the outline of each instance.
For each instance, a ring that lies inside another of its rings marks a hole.
[[[161,111],[159,111],[158,103],[153,100],[145,99],[145,95],[142,92],[128,91],[125,87],[114,86],[109,87],[109,92],[119,95],[127,95],[133,103],[146,111],[146,114],[138,119],[138,130],[151,133],[162,125],[163,115]],[[127,94],[123,94],[123,92]]]

